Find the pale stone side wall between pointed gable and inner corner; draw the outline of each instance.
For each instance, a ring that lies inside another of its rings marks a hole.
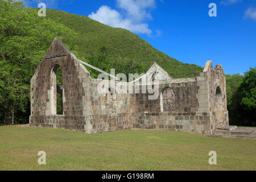
[[[99,93],[98,85],[102,80],[87,78],[83,81],[85,96],[84,115],[86,123],[90,123],[87,133],[102,133],[115,130],[130,129],[128,93]]]

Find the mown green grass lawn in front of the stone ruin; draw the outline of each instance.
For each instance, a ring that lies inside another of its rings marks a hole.
[[[38,152],[46,152],[46,165]],[[217,152],[217,165],[208,163]],[[0,127],[0,170],[255,170],[256,140],[166,130],[85,134]]]

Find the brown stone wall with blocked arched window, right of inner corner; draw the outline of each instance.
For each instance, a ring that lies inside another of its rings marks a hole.
[[[201,89],[200,86],[197,78],[181,78],[160,82],[157,100],[148,100],[148,94],[131,94],[133,127],[210,135],[212,133],[210,114],[205,110],[200,110],[202,105],[208,104],[208,100],[204,99],[199,102],[204,97],[202,90],[206,87],[203,86]],[[161,111],[161,104],[164,105],[164,100],[166,100],[164,96],[161,97],[161,94],[163,95],[166,89],[174,92],[170,92],[171,99],[167,101],[174,108],[163,106],[163,111]]]

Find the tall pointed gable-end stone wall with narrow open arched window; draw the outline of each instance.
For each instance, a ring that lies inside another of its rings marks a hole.
[[[55,56],[44,58],[31,79],[30,126],[85,131],[82,79],[89,77],[89,73],[58,39],[53,41],[46,55]],[[63,70],[63,115],[56,114],[56,77],[53,74],[56,65]]]

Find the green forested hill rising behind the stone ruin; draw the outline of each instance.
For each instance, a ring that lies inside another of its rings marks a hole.
[[[146,73],[154,62],[174,78],[195,77],[203,71],[202,67],[181,63],[158,51],[123,28],[109,27],[86,16],[59,10],[47,9],[46,18],[75,30],[77,48],[74,54],[104,71],[115,68],[118,73]]]

